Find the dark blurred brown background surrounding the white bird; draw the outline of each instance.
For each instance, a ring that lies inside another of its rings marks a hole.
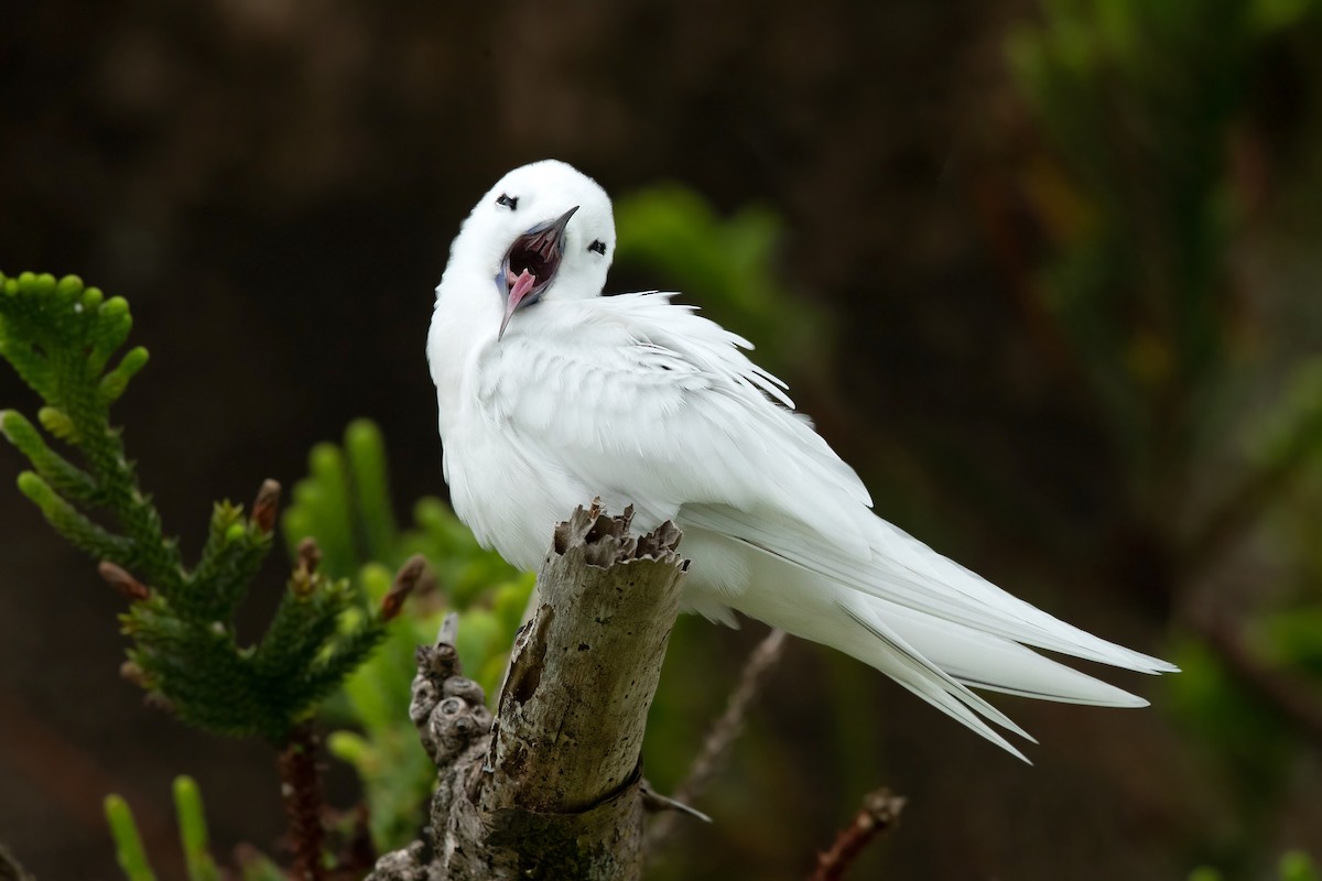
[[[0,269],[130,300],[152,365],[118,420],[196,551],[213,499],[292,483],[357,416],[401,506],[443,491],[432,288],[509,168],[756,206],[775,296],[645,243],[611,288],[683,284],[882,515],[1187,672],[1110,676],[1147,711],[998,700],[1027,767],[795,645],[654,877],[804,877],[883,783],[910,807],[855,877],[1276,877],[1322,859],[1319,48],[1306,0],[13,3]],[[0,403],[34,407],[9,371]],[[0,524],[0,841],[119,877],[115,791],[168,876],[189,773],[218,853],[278,853],[270,750],[144,709],[119,598],[16,490]],[[682,623],[662,789],[760,633]]]

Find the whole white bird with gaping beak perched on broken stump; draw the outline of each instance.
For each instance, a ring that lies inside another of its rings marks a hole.
[[[670,519],[693,564],[682,605],[825,643],[1023,758],[1032,740],[973,688],[1147,701],[1030,649],[1126,670],[1175,667],[1018,600],[873,514],[858,476],[793,412],[752,346],[669,295],[604,297],[611,199],[547,160],[473,209],[436,288],[427,359],[451,501],[509,563],[535,569],[553,526],[600,497]]]

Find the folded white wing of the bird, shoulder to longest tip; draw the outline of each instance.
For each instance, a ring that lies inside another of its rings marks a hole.
[[[924,619],[1145,672],[874,516],[857,474],[747,346],[661,295],[547,302],[483,363],[480,400],[591,493],[680,519]],[[824,584],[825,588],[825,584]]]

